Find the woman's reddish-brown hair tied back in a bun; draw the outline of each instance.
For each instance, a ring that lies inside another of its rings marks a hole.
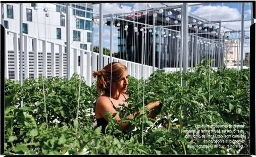
[[[112,64],[112,68],[111,68]],[[100,71],[93,71],[92,76],[97,77],[96,89],[101,94],[111,95],[110,89],[113,88],[113,85],[116,87],[119,86],[122,80],[124,72],[127,70],[126,66],[123,63],[112,62],[106,65]],[[111,74],[112,71],[112,74]],[[111,87],[112,85],[112,87]],[[116,93],[119,94],[119,93]]]

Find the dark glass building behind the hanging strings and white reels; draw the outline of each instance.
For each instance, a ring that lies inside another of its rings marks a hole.
[[[171,15],[168,14],[168,12],[172,12]],[[137,12],[134,14],[126,14],[126,15],[118,15],[118,18],[123,18],[127,20],[131,20],[134,22],[139,23],[145,23],[148,25],[153,25],[153,13],[157,13],[158,16],[156,17],[156,26],[162,26],[163,28],[168,25],[173,25],[170,27],[165,27],[167,29],[161,29],[160,27],[156,28],[156,60],[152,60],[152,40],[153,40],[153,32],[152,28],[146,29],[144,25],[134,24],[132,22],[122,21],[122,20],[115,20],[115,25],[119,25],[120,27],[118,29],[118,53],[119,57],[121,59],[125,59],[128,61],[141,63],[141,51],[145,51],[144,56],[144,64],[148,66],[152,66],[152,63],[155,62],[156,67],[158,67],[159,64],[159,57],[160,57],[160,68],[164,67],[179,67],[179,56],[180,56],[180,33],[177,31],[181,30],[179,25],[181,22],[180,18],[180,11],[175,9],[166,9],[162,14],[158,12],[148,11],[147,16],[145,16],[145,12]],[[168,19],[169,18],[169,19]],[[168,20],[166,20],[168,19]],[[197,18],[194,17],[188,17],[188,23],[194,23],[193,19],[196,19],[196,23],[199,22]],[[108,22],[108,25],[110,25],[110,22]],[[128,27],[127,27],[128,26]],[[136,27],[136,31],[135,31]],[[200,29],[198,29],[201,27]],[[141,31],[143,29],[143,31]],[[204,31],[207,29],[207,31]],[[173,30],[173,31],[172,31]],[[202,24],[196,24],[196,27],[194,25],[192,27],[188,27],[188,33],[191,33],[189,35],[189,43],[188,43],[188,66],[191,65],[191,63],[195,62],[195,34],[192,33],[198,33],[198,57],[200,59],[207,58],[209,55],[209,51],[212,51],[212,49],[206,44],[199,44],[199,41],[202,43],[204,40],[212,39],[215,41],[218,41],[218,35],[216,33],[210,33],[213,31],[218,32],[218,29],[215,27],[209,27],[204,26]],[[207,32],[207,33],[206,33]],[[142,33],[144,33],[144,36],[146,36],[146,39],[142,41]],[[203,34],[204,33],[204,34]],[[160,42],[161,40],[161,42]],[[223,42],[223,40],[221,40]],[[161,44],[160,44],[161,43]],[[217,42],[215,42],[216,44]],[[143,48],[142,48],[143,46]],[[207,51],[206,48],[209,50]],[[217,49],[217,48],[216,48]],[[160,53],[160,54],[159,54]],[[216,53],[211,53],[212,58],[213,54],[217,57]]]

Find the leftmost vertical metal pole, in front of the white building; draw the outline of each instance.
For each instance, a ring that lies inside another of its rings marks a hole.
[[[13,8],[14,9],[14,8]],[[23,5],[20,4],[20,86],[23,85]],[[23,107],[23,100],[21,100]]]

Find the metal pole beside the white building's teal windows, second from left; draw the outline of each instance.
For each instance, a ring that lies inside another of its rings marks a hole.
[[[67,10],[67,20],[66,20],[66,24],[67,24],[67,79],[68,81],[70,80],[71,76],[70,76],[70,6],[69,3],[67,3],[66,5],[66,10]]]

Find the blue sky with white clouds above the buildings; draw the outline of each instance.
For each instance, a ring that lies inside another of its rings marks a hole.
[[[178,5],[178,3],[165,3],[168,6],[174,6]],[[179,3],[181,4],[181,3]],[[130,9],[133,6],[132,3],[124,3],[124,8],[120,9],[118,6],[120,3],[116,4],[105,4],[104,5],[104,14],[117,14],[117,13],[130,13]],[[162,4],[159,3],[150,3],[152,8],[158,8],[158,7],[165,7]],[[208,19],[211,19],[211,21],[214,20],[240,20],[241,19],[241,5],[242,3],[214,3],[214,4],[206,4],[202,6],[196,6],[196,7],[189,7],[189,13],[192,13],[194,15],[197,15],[199,17]],[[93,12],[98,12],[99,5],[93,5]],[[135,5],[135,12],[139,10],[145,9],[145,3],[139,4],[137,3]],[[245,19],[251,18],[251,4],[245,5],[244,7],[244,15]],[[210,16],[211,15],[211,16]],[[244,22],[244,29],[249,30],[250,21]],[[225,26],[227,28],[232,28],[233,30],[240,30],[241,28],[241,22],[231,22],[231,23],[223,23],[222,26]],[[117,27],[114,28],[114,52],[117,51],[117,37],[118,37],[118,31]],[[249,32],[246,32],[245,35],[249,36]],[[235,35],[233,35],[235,36]],[[104,47],[110,48],[110,27],[105,26],[104,27]],[[94,45],[98,45],[98,26],[94,26]],[[249,51],[249,47],[244,47],[244,52]]]

